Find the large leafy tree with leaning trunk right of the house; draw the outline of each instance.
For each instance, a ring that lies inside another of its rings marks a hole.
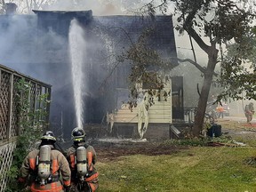
[[[231,41],[236,42],[236,44],[243,44],[243,34],[250,31],[252,20],[255,16],[252,12],[253,6],[250,6],[247,1],[240,0],[163,0],[161,4],[157,4],[153,0],[143,6],[140,9],[140,13],[149,13],[154,19],[157,9],[165,13],[170,6],[174,6],[173,15],[177,17],[178,21],[175,29],[180,34],[186,31],[188,36],[191,36],[196,41],[196,44],[208,55],[206,68],[194,60],[178,59],[180,62],[190,62],[204,75],[204,83],[199,92],[193,127],[194,135],[199,136],[204,123],[204,113],[212,78],[215,74],[214,69],[216,64],[221,61],[220,53],[225,54],[225,52],[219,52],[222,50],[219,50],[219,46],[221,48],[223,44],[228,44]],[[227,60],[224,63],[229,68],[234,68],[235,71],[236,68],[241,68],[240,64],[241,62],[235,59],[233,59],[233,62]],[[226,79],[228,77],[231,78],[233,76],[226,74]],[[240,77],[243,78],[243,76]],[[236,80],[239,80],[239,78]]]

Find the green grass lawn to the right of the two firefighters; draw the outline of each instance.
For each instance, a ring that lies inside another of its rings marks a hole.
[[[224,126],[240,129],[239,124],[236,125]],[[256,191],[256,164],[248,164],[248,159],[255,163],[255,141],[251,137],[239,139],[239,136],[236,140],[252,145],[236,148],[191,146],[172,155],[121,156],[111,162],[100,161],[96,164],[100,172],[98,192]]]

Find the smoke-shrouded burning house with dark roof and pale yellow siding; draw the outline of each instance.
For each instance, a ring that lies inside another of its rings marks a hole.
[[[135,108],[132,112],[130,110],[131,115],[125,105],[122,106],[128,100],[127,77],[131,72],[131,65],[128,61],[117,64],[115,58],[127,51],[147,28],[154,29],[154,33],[148,38],[149,46],[162,58],[175,58],[177,53],[172,17],[156,16],[156,20],[149,20],[139,16],[94,16],[92,11],[33,12],[35,15],[2,15],[0,33],[2,31],[6,35],[13,22],[19,25],[22,24],[20,22],[27,25],[29,22],[28,27],[20,32],[23,33],[22,36],[26,34],[26,44],[20,44],[19,37],[15,37],[16,42],[10,46],[9,52],[15,51],[17,44],[20,50],[22,46],[22,50],[26,52],[20,51],[22,57],[18,62],[19,68],[24,68],[26,63],[26,68],[30,69],[29,73],[22,72],[29,76],[42,76],[42,80],[52,84],[52,129],[64,132],[64,137],[69,138],[70,131],[78,124],[85,127],[88,124],[102,124],[106,119],[109,120],[106,114],[112,114],[110,122],[115,134],[130,137],[136,132],[138,121],[142,121],[139,127],[141,125],[143,128],[145,119],[138,118],[138,109]],[[74,33],[70,35],[72,28]],[[70,53],[72,48],[73,55]],[[6,57],[4,52],[0,54],[2,63],[10,67],[17,62]],[[74,75],[77,64],[80,65],[78,72],[82,75],[77,74],[77,71]],[[172,64],[177,66],[177,60],[172,60]],[[184,121],[182,77],[171,77],[168,76],[168,71],[164,71],[163,79],[166,86],[159,93],[159,100],[155,98],[156,105],[148,109],[149,129],[146,137],[169,137],[170,124]],[[81,94],[79,102],[74,99],[75,87],[78,87]],[[139,90],[143,98],[147,87],[145,84],[141,85]],[[164,96],[164,92],[171,93]],[[76,107],[81,110],[78,115]],[[126,112],[121,112],[122,110]],[[124,114],[121,115],[122,113]],[[82,119],[80,123],[76,121],[77,116]],[[154,118],[157,119],[153,120]],[[150,130],[162,133],[154,136],[150,134]]]

